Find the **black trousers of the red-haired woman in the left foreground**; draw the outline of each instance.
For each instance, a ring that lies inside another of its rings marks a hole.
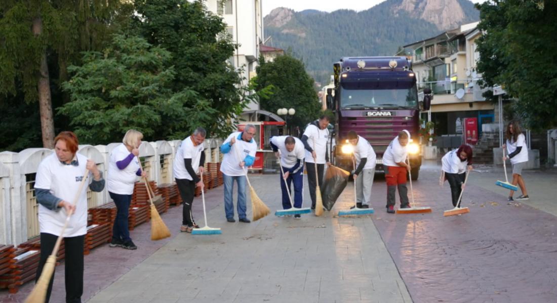
[[[41,261],[37,268],[37,277],[35,282],[41,276],[42,267],[45,266],[46,259],[52,254],[57,236],[41,232]],[[81,295],[83,294],[83,245],[85,235],[77,237],[64,238],[65,246],[65,279],[66,279],[66,303],[81,303]],[[46,300],[50,300],[52,291],[52,283],[54,282],[54,273],[48,284],[46,292]]]

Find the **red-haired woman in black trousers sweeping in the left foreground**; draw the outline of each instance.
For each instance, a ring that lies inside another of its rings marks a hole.
[[[63,131],[56,136],[54,142],[55,152],[41,161],[35,180],[35,193],[39,203],[38,221],[41,231],[41,260],[38,264],[36,279],[41,277],[43,267],[46,269],[48,256],[52,254],[58,237],[62,236],[65,245],[66,302],[77,303],[81,302],[83,294],[83,251],[87,234],[87,191],[82,188],[82,182],[90,182],[91,191],[101,192],[105,186],[105,180],[95,162],[87,160],[87,157],[77,153],[79,141],[75,133]],[[90,181],[84,180],[87,178],[84,173],[92,175],[89,178]],[[79,196],[77,196],[78,193]],[[69,213],[72,215],[67,218]],[[61,235],[66,218],[68,224]],[[47,266],[49,265],[47,264]],[[50,300],[53,281],[54,273],[52,271],[45,302]],[[39,284],[45,282],[45,280],[38,281],[37,289]],[[35,295],[38,294],[35,293]],[[44,297],[43,294],[38,296]],[[30,298],[28,300],[32,301]]]

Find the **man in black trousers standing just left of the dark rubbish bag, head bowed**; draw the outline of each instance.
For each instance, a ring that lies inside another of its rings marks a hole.
[[[311,197],[311,209],[315,210],[315,190],[317,185],[323,182],[323,171],[325,163],[330,166],[329,153],[327,152],[327,142],[329,141],[329,117],[323,115],[314,122],[307,125],[304,135],[302,135],[302,143],[306,148],[305,160],[307,164],[307,183],[309,185]],[[317,165],[315,165],[317,163]],[[317,166],[317,176],[315,175],[315,166]],[[319,180],[319,182],[317,182]]]

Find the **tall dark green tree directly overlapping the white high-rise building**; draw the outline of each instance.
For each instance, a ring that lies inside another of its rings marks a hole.
[[[138,14],[132,30],[172,55],[172,90],[197,93],[212,109],[203,112],[207,119],[199,120],[199,125],[212,135],[227,136],[234,127],[233,118],[258,97],[227,64],[236,45],[227,36],[222,18],[207,11],[202,1],[136,0],[135,8]],[[190,98],[184,106],[196,106],[193,102]]]

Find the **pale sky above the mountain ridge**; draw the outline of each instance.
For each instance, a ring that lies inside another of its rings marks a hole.
[[[337,9],[354,9],[354,11],[365,11],[385,0],[262,0],[263,16],[267,16],[277,7],[287,7],[299,12],[304,9],[317,9],[319,11],[333,12]],[[471,0],[474,3],[486,0]]]

